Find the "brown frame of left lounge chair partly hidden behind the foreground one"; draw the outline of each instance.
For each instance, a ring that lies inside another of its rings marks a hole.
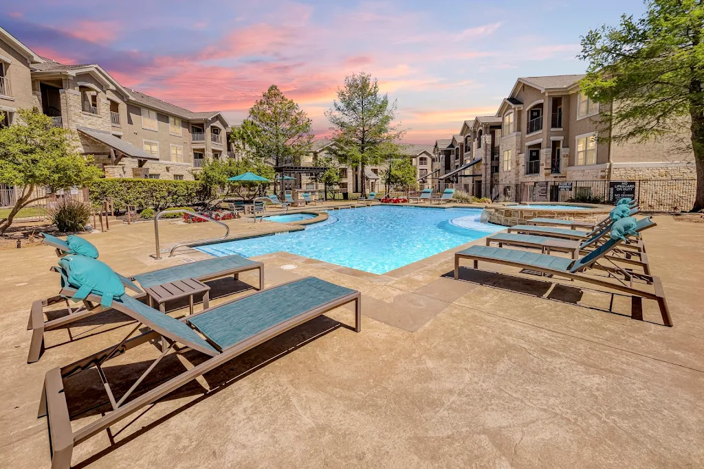
[[[57,254],[60,249],[56,248]],[[61,256],[59,256],[61,257]],[[252,261],[251,264],[246,264],[244,266],[234,267],[232,269],[227,269],[224,271],[213,272],[203,276],[194,277],[197,281],[205,282],[209,280],[214,280],[215,278],[223,278],[232,275],[234,280],[239,280],[239,274],[242,272],[258,269],[259,271],[259,288],[257,290],[262,290],[264,288],[264,264],[263,262]],[[58,269],[54,266],[51,270],[58,272]],[[159,269],[161,270],[161,269]],[[134,277],[129,277],[129,281],[134,281]],[[132,286],[127,284],[124,280],[125,286],[135,290]],[[134,284],[132,284],[134,285]],[[139,295],[135,298],[141,298],[145,295],[142,290],[135,290]],[[44,321],[44,308],[50,306],[51,304],[57,304],[65,302],[68,307],[68,314],[66,316],[61,316],[61,318],[52,319],[51,321]],[[44,333],[49,330],[54,330],[61,328],[67,324],[79,321],[87,316],[92,316],[103,311],[102,308],[96,307],[94,302],[89,300],[84,300],[82,302],[82,307],[77,307],[75,309],[71,308],[70,302],[67,297],[59,293],[56,296],[46,298],[44,300],[35,300],[32,302],[32,309],[30,309],[30,319],[27,321],[27,330],[32,330],[32,340],[30,340],[30,349],[27,352],[27,363],[34,363],[39,360],[42,356],[42,349],[44,348]],[[97,302],[98,304],[100,302]]]

